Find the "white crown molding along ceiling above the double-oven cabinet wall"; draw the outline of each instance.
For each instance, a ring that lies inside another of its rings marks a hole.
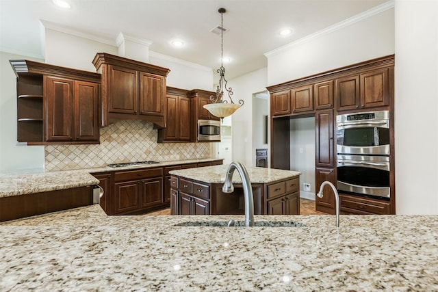
[[[335,25],[331,25],[329,27],[321,29],[320,31],[316,31],[313,34],[309,34],[309,36],[305,36],[304,38],[300,38],[299,40],[295,40],[294,42],[290,42],[289,44],[285,44],[282,47],[279,47],[279,48],[274,49],[272,51],[268,51],[267,53],[264,53],[263,55],[265,55],[266,57],[271,57],[273,55],[277,55],[279,53],[282,53],[283,51],[286,51],[287,49],[290,49],[292,47],[296,47],[300,44],[304,44],[305,42],[310,42],[311,40],[315,40],[317,38],[321,38],[322,36],[325,36],[327,34],[331,34],[333,31],[337,31],[337,30],[342,29],[344,27],[348,27],[350,25],[358,23],[359,21],[363,21],[367,18],[370,18],[372,16],[375,16],[377,14],[380,14],[381,12],[385,12],[385,11],[390,10],[392,8],[394,8],[394,0],[387,1],[381,5],[378,5],[374,8],[371,8],[370,10],[367,10],[365,12],[362,12],[360,14],[357,14],[355,16],[347,18],[346,20],[341,21],[340,23],[336,23]]]

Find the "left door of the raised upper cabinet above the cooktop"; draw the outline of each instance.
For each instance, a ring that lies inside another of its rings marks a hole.
[[[108,65],[108,111],[118,114],[138,112],[138,72]]]

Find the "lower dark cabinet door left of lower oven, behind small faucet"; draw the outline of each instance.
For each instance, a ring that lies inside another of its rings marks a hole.
[[[320,186],[324,181],[330,181],[333,185],[336,185],[333,168],[316,168],[315,172],[317,191],[319,191]],[[322,193],[324,195],[322,198],[315,196],[316,211],[335,214],[335,194],[333,194],[333,190],[326,185],[324,189],[322,189]]]

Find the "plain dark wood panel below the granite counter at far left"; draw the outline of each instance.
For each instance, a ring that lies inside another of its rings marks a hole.
[[[93,204],[92,187],[0,198],[0,222]]]

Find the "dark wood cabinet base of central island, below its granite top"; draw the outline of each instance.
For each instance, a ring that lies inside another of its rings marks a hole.
[[[205,183],[172,175],[170,178],[172,215],[239,215],[245,213],[244,189],[234,183],[231,194],[222,191],[223,183]],[[252,183],[255,215],[298,215],[299,178],[270,183]]]

